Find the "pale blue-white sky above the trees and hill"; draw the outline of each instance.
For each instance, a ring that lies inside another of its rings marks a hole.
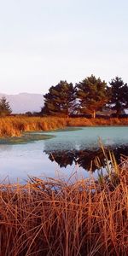
[[[0,92],[94,74],[128,83],[127,0],[0,0]]]

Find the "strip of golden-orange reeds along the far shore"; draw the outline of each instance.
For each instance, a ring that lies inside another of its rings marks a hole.
[[[23,131],[50,131],[67,126],[128,125],[128,119],[7,117],[0,119],[0,137],[20,136]]]

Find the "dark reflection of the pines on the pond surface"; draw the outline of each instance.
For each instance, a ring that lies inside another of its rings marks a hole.
[[[117,163],[119,164],[121,161],[121,156],[128,155],[128,145],[123,147],[117,147],[117,148],[105,148],[106,154],[108,155],[109,160],[109,150],[113,150],[113,154],[115,156],[115,159]],[[92,172],[95,172],[96,169],[99,169],[100,167],[106,166],[106,159],[103,154],[102,148],[92,150],[73,150],[73,151],[67,151],[67,150],[61,150],[61,151],[53,151],[49,152],[47,150],[44,150],[45,154],[49,155],[49,160],[55,161],[60,167],[67,167],[68,165],[72,166],[73,163],[78,164],[80,167],[83,167],[84,170]],[[96,158],[100,159],[101,166],[96,165]]]

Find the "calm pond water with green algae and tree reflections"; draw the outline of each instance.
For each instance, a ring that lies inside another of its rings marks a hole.
[[[44,134],[50,138],[41,140]],[[39,140],[34,141],[38,136]],[[18,177],[20,182],[24,182],[28,175],[68,177],[75,171],[79,171],[79,175],[88,177],[89,172],[85,170],[89,170],[90,160],[93,160],[96,154],[99,155],[99,137],[105,147],[112,147],[114,150],[128,148],[128,127],[126,126],[33,132],[26,143],[15,141],[15,139],[1,140],[0,181],[2,182],[6,177],[9,177],[10,181],[16,181]],[[124,152],[127,153],[127,151]],[[96,166],[93,169],[95,170]]]

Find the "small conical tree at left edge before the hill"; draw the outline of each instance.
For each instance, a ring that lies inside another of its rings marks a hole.
[[[0,116],[7,116],[12,113],[12,110],[9,106],[9,102],[7,102],[6,98],[3,96],[0,100]]]

